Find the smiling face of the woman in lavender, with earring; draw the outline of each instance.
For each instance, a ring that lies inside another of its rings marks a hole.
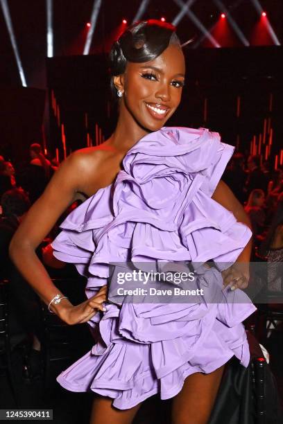
[[[182,49],[171,44],[154,60],[128,62],[123,76],[115,78],[123,91],[120,114],[125,107],[144,129],[160,130],[180,104],[185,80]]]

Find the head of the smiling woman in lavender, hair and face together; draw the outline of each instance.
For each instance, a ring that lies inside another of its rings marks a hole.
[[[159,130],[180,104],[185,80],[185,58],[174,27],[149,20],[129,28],[114,44],[110,60],[112,92],[124,95],[120,114],[126,107],[141,127]]]

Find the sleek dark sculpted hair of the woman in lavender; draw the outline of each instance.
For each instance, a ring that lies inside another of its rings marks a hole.
[[[124,73],[127,62],[148,62],[161,55],[169,44],[180,45],[175,30],[171,24],[149,19],[129,26],[114,42],[110,51],[110,87],[115,98],[117,89],[112,77]]]

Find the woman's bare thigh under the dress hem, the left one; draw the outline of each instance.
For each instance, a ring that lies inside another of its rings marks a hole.
[[[99,396],[92,403],[92,414],[89,424],[130,424],[135,418],[139,405],[130,409],[117,409],[112,407],[112,399]]]

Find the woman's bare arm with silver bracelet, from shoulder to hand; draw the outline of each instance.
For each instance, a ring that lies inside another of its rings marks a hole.
[[[46,305],[55,294],[62,293],[52,283],[44,266],[37,258],[35,249],[67,206],[74,201],[76,191],[82,191],[85,179],[89,178],[88,160],[85,154],[75,152],[62,163],[46,186],[43,195],[26,214],[10,242],[10,258]],[[97,302],[92,299],[83,308],[74,307],[68,299],[62,299],[58,305],[52,303],[51,308],[68,324],[77,324],[87,321],[96,313],[93,307],[97,306],[101,298]],[[96,306],[93,306],[94,304]],[[99,309],[102,310],[103,307],[99,305]]]

